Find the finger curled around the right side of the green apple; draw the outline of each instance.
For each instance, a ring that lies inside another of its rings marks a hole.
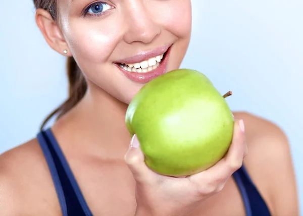
[[[245,151],[245,134],[243,120],[235,121],[233,138],[227,154],[213,167],[201,173],[190,176],[193,181],[225,182],[242,166]]]

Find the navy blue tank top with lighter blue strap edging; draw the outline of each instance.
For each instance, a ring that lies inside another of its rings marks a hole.
[[[63,216],[93,215],[51,128],[39,132],[37,139],[51,172]],[[244,166],[233,174],[233,178],[241,193],[246,215],[270,216],[268,206]]]

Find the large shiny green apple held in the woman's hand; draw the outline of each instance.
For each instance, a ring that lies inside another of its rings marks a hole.
[[[225,98],[203,74],[178,69],[146,83],[130,102],[126,126],[146,165],[167,176],[188,176],[227,152],[234,119]]]

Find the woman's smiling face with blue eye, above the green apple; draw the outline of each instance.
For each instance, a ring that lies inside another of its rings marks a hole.
[[[190,0],[58,0],[63,35],[90,89],[129,103],[178,69],[191,33]]]

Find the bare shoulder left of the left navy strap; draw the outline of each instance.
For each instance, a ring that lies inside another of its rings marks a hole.
[[[56,200],[52,177],[37,139],[0,155],[2,215],[41,215],[43,208],[58,209]]]

